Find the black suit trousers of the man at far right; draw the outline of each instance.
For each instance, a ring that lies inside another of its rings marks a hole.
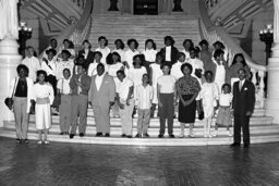
[[[243,144],[244,145],[250,145],[248,123],[250,123],[250,116],[247,116],[245,114],[234,113],[234,126],[233,126],[234,136],[233,136],[233,139],[234,139],[235,144],[241,144],[241,128],[242,128]]]

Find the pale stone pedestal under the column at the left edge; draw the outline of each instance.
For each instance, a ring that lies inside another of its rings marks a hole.
[[[19,44],[13,39],[0,41],[0,127],[3,121],[13,120],[13,113],[4,104],[9,95],[10,83],[16,74],[16,66],[21,63],[22,55],[19,54]]]

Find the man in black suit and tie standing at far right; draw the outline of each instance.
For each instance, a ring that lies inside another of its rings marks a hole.
[[[244,148],[248,148],[248,123],[255,107],[255,86],[246,79],[246,71],[244,69],[240,69],[238,73],[240,80],[233,84],[234,137],[231,147],[240,147],[242,127]]]

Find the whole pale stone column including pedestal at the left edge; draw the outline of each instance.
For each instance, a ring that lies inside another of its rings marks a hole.
[[[0,127],[3,121],[13,120],[13,113],[5,107],[10,83],[16,76],[16,66],[21,63],[19,54],[17,0],[1,0],[0,4]],[[3,26],[5,25],[5,26]]]

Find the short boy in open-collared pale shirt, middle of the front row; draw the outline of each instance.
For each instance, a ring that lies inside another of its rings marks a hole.
[[[135,137],[149,137],[147,129],[150,122],[150,108],[154,89],[149,85],[149,75],[143,75],[143,84],[135,89],[135,103],[137,107],[137,135]]]

